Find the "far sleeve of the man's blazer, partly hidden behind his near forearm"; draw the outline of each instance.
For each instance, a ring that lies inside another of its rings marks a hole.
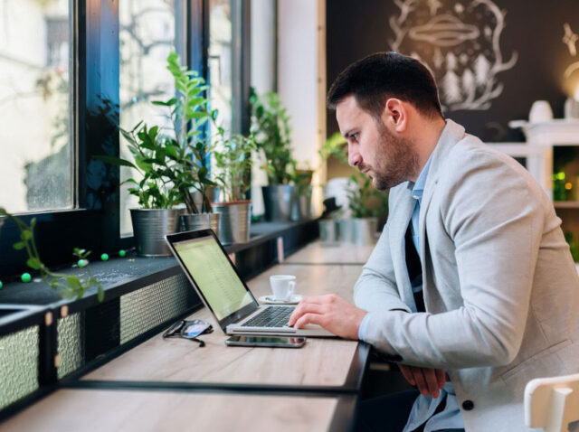
[[[388,234],[389,228],[388,223],[386,223],[375,249],[356,281],[354,303],[368,312],[384,312],[394,309],[411,312],[408,305],[403,303],[396,288]]]

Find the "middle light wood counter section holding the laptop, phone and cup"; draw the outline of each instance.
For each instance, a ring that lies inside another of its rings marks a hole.
[[[256,296],[271,293],[273,274],[297,277],[296,292],[338,293],[352,299],[359,266],[275,266],[249,281]],[[207,308],[191,318],[214,325],[214,333],[200,336],[205,346],[157,334],[145,343],[85,375],[83,380],[214,382],[285,386],[344,386],[356,362],[358,343],[337,338],[309,338],[300,349],[227,347],[226,336]],[[359,371],[361,373],[361,371]],[[353,377],[349,377],[351,380]]]

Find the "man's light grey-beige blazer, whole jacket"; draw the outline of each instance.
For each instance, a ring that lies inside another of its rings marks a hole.
[[[365,341],[446,369],[467,430],[527,430],[528,380],[579,371],[579,277],[553,203],[514,159],[448,120],[421,204],[422,314],[409,313],[404,263],[414,204],[408,183],[390,191],[356,282],[356,305],[372,312]]]

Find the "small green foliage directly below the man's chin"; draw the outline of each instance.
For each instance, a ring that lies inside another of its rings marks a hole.
[[[353,187],[349,188],[347,197],[354,218],[379,217],[388,211],[387,193],[375,190],[370,177],[356,173],[350,176],[350,181]]]

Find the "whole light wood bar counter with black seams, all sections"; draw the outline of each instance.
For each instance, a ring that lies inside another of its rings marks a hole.
[[[316,242],[248,285],[256,298],[269,295],[271,275],[291,274],[297,294],[337,293],[352,301],[371,250]],[[200,336],[204,348],[156,334],[7,419],[0,431],[348,429],[367,345],[309,338],[300,349],[227,347],[207,308],[192,318],[214,325],[214,333]]]

